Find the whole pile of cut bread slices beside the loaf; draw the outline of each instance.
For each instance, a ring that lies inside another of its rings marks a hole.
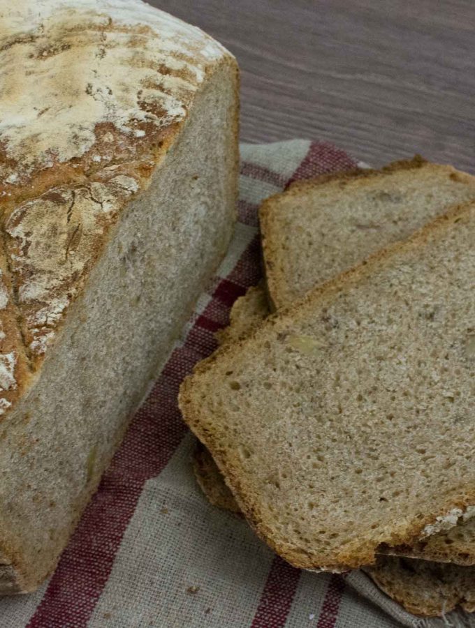
[[[475,177],[416,157],[260,218],[265,284],[180,391],[200,486],[295,567],[475,611]]]

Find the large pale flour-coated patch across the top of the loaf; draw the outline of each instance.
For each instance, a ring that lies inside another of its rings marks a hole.
[[[7,195],[41,170],[54,178],[64,165],[74,174],[154,154],[153,140],[184,120],[207,65],[224,54],[138,0],[8,0],[0,33]]]

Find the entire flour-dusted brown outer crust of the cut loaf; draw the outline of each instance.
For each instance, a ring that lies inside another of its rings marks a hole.
[[[2,3],[0,415],[224,57],[140,0]]]

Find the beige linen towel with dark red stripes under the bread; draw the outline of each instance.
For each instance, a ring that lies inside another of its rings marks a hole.
[[[214,331],[261,276],[258,204],[291,181],[353,167],[325,142],[241,147],[239,222],[101,486],[36,593],[2,599],[1,628],[438,628],[475,626],[463,613],[421,620],[365,574],[288,565],[247,523],[207,503],[191,470],[194,440],[180,419],[180,382],[216,348]]]

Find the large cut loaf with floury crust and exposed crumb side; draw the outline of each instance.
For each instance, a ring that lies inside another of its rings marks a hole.
[[[139,0],[0,8],[0,592],[34,589],[233,229],[238,68]]]

